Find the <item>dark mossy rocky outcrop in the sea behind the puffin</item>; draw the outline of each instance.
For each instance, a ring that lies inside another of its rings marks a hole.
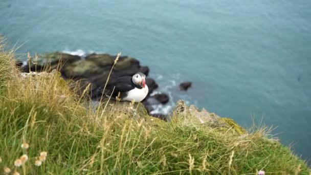
[[[54,69],[61,72],[64,79],[73,79],[78,81],[79,90],[82,93],[88,84],[88,94],[91,99],[98,99],[101,97],[103,87],[108,78],[109,72],[113,67],[116,56],[109,54],[90,54],[85,57],[71,55],[67,53],[55,52],[48,54],[41,54],[35,57],[28,57],[27,65],[20,62],[16,65],[20,67],[21,71],[29,72],[50,72]],[[132,76],[137,72],[142,72],[148,76],[149,68],[141,66],[140,62],[129,56],[121,56],[115,64],[114,69],[110,75],[109,83],[113,83],[118,77]],[[148,98],[153,98],[157,103],[167,103],[169,98],[165,95],[158,95],[150,97],[150,94],[158,88],[158,84],[154,79],[147,77],[146,84],[149,88]],[[147,99],[145,101],[147,101]],[[147,111],[152,111],[150,103],[144,103]]]

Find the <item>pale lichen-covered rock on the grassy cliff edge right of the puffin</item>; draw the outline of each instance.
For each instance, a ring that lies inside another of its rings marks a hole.
[[[177,102],[173,113],[179,115],[179,117],[182,115],[190,119],[195,119],[199,123],[208,124],[214,128],[227,129],[228,132],[234,132],[238,135],[247,133],[246,130],[239,126],[234,120],[229,118],[221,118],[214,113],[209,113],[204,108],[199,110],[194,105],[187,106],[183,100]]]

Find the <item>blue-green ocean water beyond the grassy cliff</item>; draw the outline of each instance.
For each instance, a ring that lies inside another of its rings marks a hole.
[[[311,160],[311,2],[0,0],[17,53],[106,52],[148,65],[159,92],[272,134]],[[180,92],[182,81],[192,81]]]

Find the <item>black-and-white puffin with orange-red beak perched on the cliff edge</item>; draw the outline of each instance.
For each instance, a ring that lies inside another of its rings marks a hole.
[[[141,102],[148,95],[146,75],[138,72],[133,76],[118,78],[108,85],[104,94],[109,97],[119,97],[121,101]]]

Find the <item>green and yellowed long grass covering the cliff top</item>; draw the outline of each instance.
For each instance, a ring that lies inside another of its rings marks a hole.
[[[140,103],[103,100],[94,110],[57,72],[21,77],[13,56],[0,51],[0,172],[309,174],[264,128],[239,135],[177,114],[164,122]],[[41,151],[47,160],[35,166]],[[15,167],[24,154],[29,160]]]

